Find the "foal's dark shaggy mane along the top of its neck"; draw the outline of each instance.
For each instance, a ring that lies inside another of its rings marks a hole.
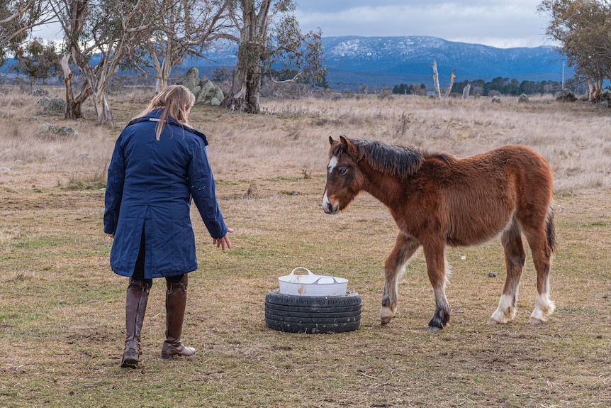
[[[420,170],[427,158],[439,158],[448,164],[455,160],[451,155],[422,153],[411,145],[390,146],[378,140],[348,140],[359,149],[357,161],[366,160],[374,170],[402,180]],[[342,144],[337,143],[332,147],[331,154],[340,153]]]

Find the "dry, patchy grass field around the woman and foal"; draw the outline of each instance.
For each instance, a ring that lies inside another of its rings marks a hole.
[[[200,268],[190,275],[183,340],[198,354],[160,358],[157,280],[142,368],[125,370],[126,280],[108,266],[103,186],[114,140],[152,95],[112,96],[116,126],[108,128],[90,112],[65,121],[37,109],[38,97],[2,92],[1,407],[611,406],[611,111],[549,98],[264,100],[259,116],[194,108],[234,248],[215,248],[194,211]],[[40,131],[43,123],[78,135]],[[486,324],[505,278],[495,240],[447,250],[448,329],[426,331],[435,304],[421,254],[400,281],[398,315],[381,326],[383,262],[396,226],[368,194],[336,216],[320,209],[327,139],[340,135],[459,157],[509,143],[542,153],[555,175],[556,313],[527,324],[535,293],[528,255],[516,319]],[[296,266],[349,280],[363,302],[357,331],[267,329],[265,294]]]

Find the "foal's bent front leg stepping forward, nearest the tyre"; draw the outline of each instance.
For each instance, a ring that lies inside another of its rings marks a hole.
[[[388,324],[397,313],[397,284],[405,270],[405,264],[420,247],[420,242],[412,236],[399,233],[393,251],[386,258],[384,265],[384,290],[380,319]]]

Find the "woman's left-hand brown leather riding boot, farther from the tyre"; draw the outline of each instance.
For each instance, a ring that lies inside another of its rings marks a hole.
[[[130,277],[125,299],[125,350],[121,367],[138,368],[140,358],[140,331],[145,318],[150,285],[143,280]]]

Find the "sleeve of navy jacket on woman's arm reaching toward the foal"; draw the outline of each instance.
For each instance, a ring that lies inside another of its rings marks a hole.
[[[216,186],[206,146],[202,139],[196,139],[189,163],[189,192],[211,237],[220,239],[227,235],[227,226],[218,207]]]

